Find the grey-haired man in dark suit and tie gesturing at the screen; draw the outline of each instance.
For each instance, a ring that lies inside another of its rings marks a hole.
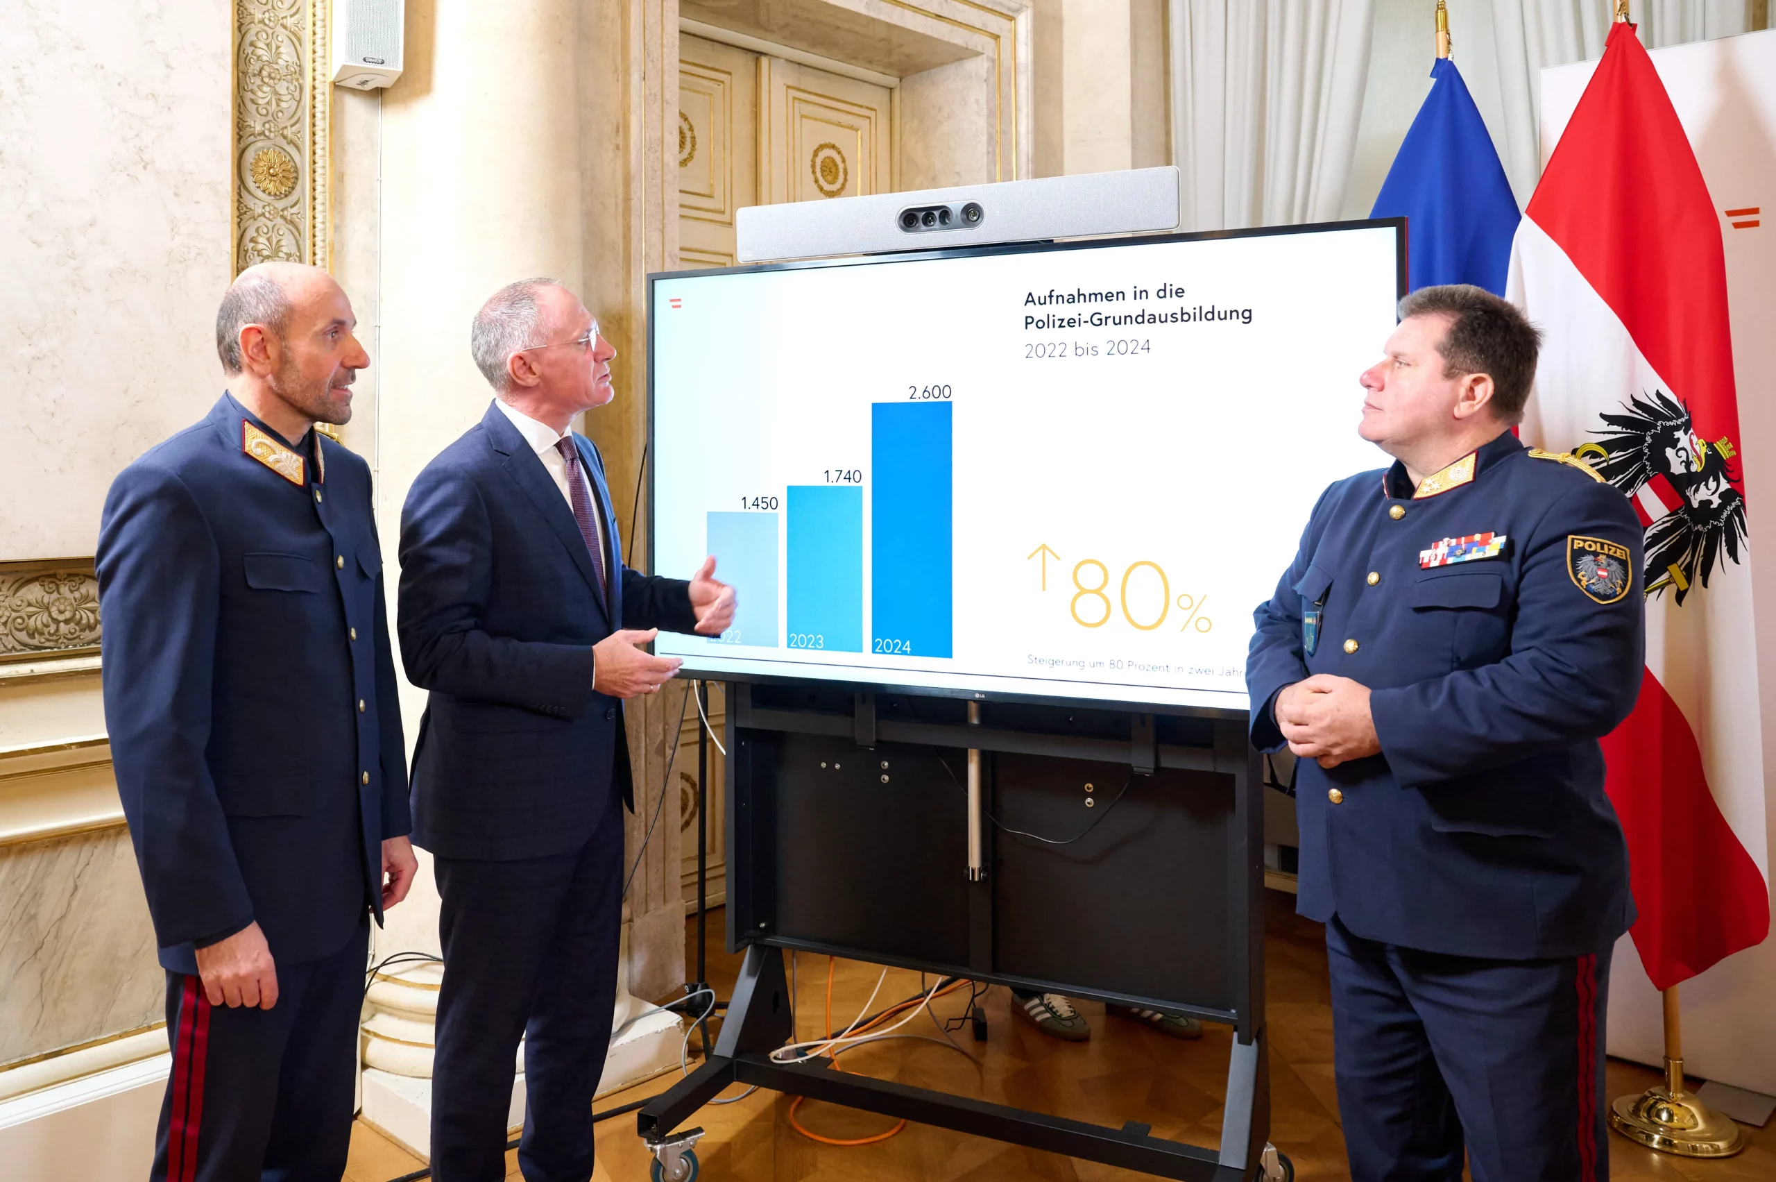
[[[623,699],[680,661],[654,629],[719,635],[733,590],[623,565],[599,450],[570,430],[611,400],[611,357],[565,288],[501,288],[471,348],[497,398],[414,482],[401,512],[400,638],[432,697],[414,748],[414,839],[442,908],[432,1093],[439,1182],[504,1177],[513,1058],[531,1182],[586,1182],[591,1098],[616,1001]],[[648,629],[648,631],[638,631]]]

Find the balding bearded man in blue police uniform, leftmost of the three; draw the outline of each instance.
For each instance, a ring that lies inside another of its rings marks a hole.
[[[229,393],[105,499],[105,723],[167,970],[156,1182],[337,1182],[368,915],[412,885],[369,467],[313,430],[352,416],[353,325],[314,267],[242,272]]]

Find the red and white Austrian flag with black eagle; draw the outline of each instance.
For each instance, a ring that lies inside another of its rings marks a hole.
[[[1721,220],[1634,27],[1609,32],[1511,245],[1542,325],[1526,443],[1646,530],[1646,672],[1607,739],[1634,946],[1659,988],[1769,933],[1755,601]]]

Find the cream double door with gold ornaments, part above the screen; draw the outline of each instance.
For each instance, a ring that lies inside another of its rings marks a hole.
[[[678,258],[732,267],[748,204],[893,190],[888,87],[678,34]]]

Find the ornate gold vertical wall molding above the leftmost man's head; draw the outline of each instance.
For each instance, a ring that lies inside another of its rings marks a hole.
[[[329,265],[329,0],[234,4],[234,272]]]

